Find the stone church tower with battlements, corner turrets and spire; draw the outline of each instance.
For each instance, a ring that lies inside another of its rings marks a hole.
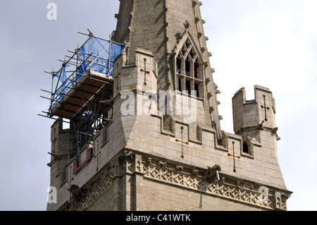
[[[47,210],[287,209],[273,95],[255,86],[246,101],[239,90],[235,134],[221,130],[200,6],[120,1],[111,38],[128,47],[113,61],[111,119],[77,154],[72,124],[51,126]]]

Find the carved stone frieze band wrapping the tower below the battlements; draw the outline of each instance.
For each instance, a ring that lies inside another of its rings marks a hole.
[[[89,185],[80,188],[81,195],[76,196],[76,193],[80,193],[76,192],[71,197],[70,204],[65,205],[63,210],[81,211],[87,209],[99,196],[106,193],[108,188],[113,185],[113,179],[116,176],[122,176],[125,173],[139,173],[142,174],[143,178],[160,181],[167,185],[180,186],[207,195],[224,197],[228,200],[266,209],[287,210],[286,200],[290,197],[287,193],[280,190],[268,190],[268,195],[263,196],[263,193],[257,191],[259,185],[235,180],[235,178],[223,174],[221,174],[219,181],[214,179],[210,181],[206,174],[209,171],[209,174],[213,176],[210,172],[216,169],[220,171],[220,167],[217,165],[210,168],[209,171],[171,161],[163,162],[160,159],[144,157],[133,152],[123,152],[113,164],[101,170],[100,175],[95,177]]]

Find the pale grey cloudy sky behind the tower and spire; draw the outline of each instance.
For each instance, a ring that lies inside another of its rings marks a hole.
[[[47,20],[54,2],[57,20]],[[314,0],[201,0],[213,53],[222,129],[233,133],[231,98],[246,87],[269,87],[276,100],[278,156],[290,210],[317,210],[316,61]],[[49,187],[49,118],[37,116],[49,102],[44,71],[58,70],[67,50],[87,28],[106,37],[116,28],[116,0],[11,0],[0,8],[0,210],[45,210]]]

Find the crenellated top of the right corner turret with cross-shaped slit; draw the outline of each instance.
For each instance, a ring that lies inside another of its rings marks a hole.
[[[233,126],[240,135],[245,130],[277,130],[275,128],[275,99],[271,90],[259,85],[254,86],[253,100],[247,100],[242,87],[232,97]]]

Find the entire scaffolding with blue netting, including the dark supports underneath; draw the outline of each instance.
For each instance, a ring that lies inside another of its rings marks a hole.
[[[88,30],[89,31],[89,30]],[[96,135],[112,118],[113,104],[113,61],[124,51],[127,44],[88,36],[75,51],[68,51],[62,67],[51,74],[47,118],[66,119],[70,123],[68,159],[80,154],[82,146],[91,144]]]

